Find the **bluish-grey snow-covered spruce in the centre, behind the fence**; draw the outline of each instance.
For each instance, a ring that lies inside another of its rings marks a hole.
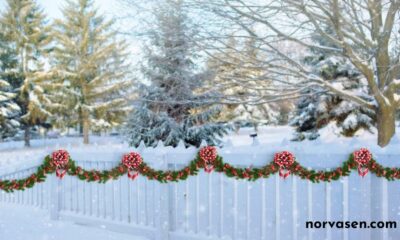
[[[133,146],[144,141],[155,146],[158,141],[176,146],[219,144],[227,133],[223,124],[212,122],[220,111],[210,100],[214,93],[203,92],[209,75],[198,72],[194,59],[194,30],[183,9],[183,2],[163,1],[155,10],[156,29],[151,33],[147,64],[143,74],[149,84],[139,88],[139,99],[125,133]]]

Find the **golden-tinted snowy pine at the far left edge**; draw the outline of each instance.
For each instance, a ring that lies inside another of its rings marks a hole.
[[[0,27],[15,63],[5,72],[17,94],[25,146],[30,146],[31,127],[44,123],[56,107],[52,105],[52,80],[44,59],[51,47],[50,28],[36,1],[7,0],[6,5]]]

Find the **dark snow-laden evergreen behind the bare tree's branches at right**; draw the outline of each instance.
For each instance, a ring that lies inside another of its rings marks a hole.
[[[334,47],[321,38],[314,38],[322,46]],[[372,101],[367,84],[354,66],[346,59],[326,54],[320,49],[310,49],[310,56],[304,61],[320,75],[337,87],[366,101]],[[345,100],[323,88],[314,87],[303,92],[296,106],[296,114],[291,121],[295,127],[295,141],[314,140],[319,137],[318,130],[330,122],[335,122],[341,135],[351,137],[360,130],[372,131],[375,126],[375,114],[371,109]]]

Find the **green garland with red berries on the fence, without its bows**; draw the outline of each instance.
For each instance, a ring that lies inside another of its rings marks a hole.
[[[207,157],[204,157],[202,155],[203,150],[215,151],[213,152],[214,156],[212,157],[210,155],[211,158],[207,159]],[[291,155],[291,153],[285,153]],[[67,164],[63,166],[63,170],[65,171],[65,174],[68,174],[69,176],[76,176],[78,179],[86,182],[106,183],[109,180],[118,179],[119,177],[129,173],[129,171],[135,171],[136,173],[146,177],[149,180],[157,180],[161,183],[167,183],[184,181],[189,176],[197,175],[200,169],[207,170],[207,167],[210,166],[212,168],[208,172],[215,170],[218,173],[225,174],[225,176],[227,177],[235,179],[245,179],[248,181],[256,181],[260,178],[268,178],[271,175],[274,175],[277,172],[280,172],[280,170],[284,169],[290,174],[296,175],[301,179],[306,179],[313,183],[318,183],[339,180],[343,176],[349,176],[352,170],[355,170],[357,168],[360,170],[360,163],[354,160],[355,153],[350,154],[349,158],[347,159],[347,161],[343,162],[342,166],[331,171],[308,170],[305,167],[301,166],[300,163],[295,161],[294,157],[293,161],[290,162],[290,165],[284,167],[282,167],[282,164],[279,164],[279,162],[274,159],[274,161],[272,161],[271,163],[260,168],[238,168],[230,165],[229,163],[225,163],[223,158],[216,154],[216,149],[213,147],[205,147],[201,149],[196,158],[193,159],[188,166],[175,171],[162,171],[153,169],[145,162],[143,162],[141,160],[141,157],[137,153],[134,154],[140,157],[140,164],[138,164],[138,167],[135,169],[131,169],[129,166],[121,162],[118,164],[118,166],[110,170],[85,170],[82,167],[77,166],[75,164],[75,161],[73,161],[69,157],[68,153],[66,153]],[[277,153],[275,155],[275,158],[277,158],[277,156],[279,157],[279,154],[281,153]],[[374,173],[377,177],[384,177],[389,181],[400,179],[400,168],[383,167],[382,165],[377,163],[372,157],[368,159],[368,161],[365,162],[362,167],[367,172],[370,171]],[[23,179],[0,180],[0,189],[6,192],[13,192],[15,190],[25,190],[28,188],[32,188],[33,186],[35,186],[36,183],[44,182],[47,175],[53,174],[57,171],[58,166],[55,163],[54,157],[48,155],[45,157],[43,164],[39,166],[36,172],[31,174],[30,176]],[[60,176],[58,174],[57,176],[59,176],[60,178],[63,177],[63,175]],[[284,176],[284,178],[285,177],[286,176]]]

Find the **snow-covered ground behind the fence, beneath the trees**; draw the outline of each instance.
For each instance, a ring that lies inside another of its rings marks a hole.
[[[400,125],[400,124],[397,124]],[[368,147],[374,152],[400,152],[400,127],[393,137],[391,143],[380,148],[376,145],[376,134],[360,131],[355,137],[346,138],[340,136],[334,124],[330,124],[320,130],[320,137],[314,141],[293,142],[293,128],[289,126],[263,126],[258,129],[257,142],[262,146],[274,147],[277,150],[282,148],[304,149],[304,151],[353,151],[357,147]],[[253,139],[249,134],[254,133],[253,128],[241,128],[238,133],[230,132],[222,141],[225,146],[249,146]],[[22,141],[0,143],[0,166],[13,162],[16,155],[29,156],[38,152],[51,152],[54,149],[64,148],[92,148],[92,147],[128,147],[128,143],[121,136],[91,136],[89,145],[82,144],[80,137],[60,137],[56,139],[35,139],[31,141],[31,148],[25,148]],[[327,148],[329,146],[329,148]],[[26,159],[26,158],[25,158]]]

